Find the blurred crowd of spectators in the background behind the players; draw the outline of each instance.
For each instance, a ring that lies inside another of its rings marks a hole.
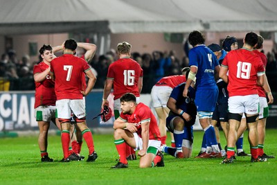
[[[132,53],[132,58],[139,62],[143,69],[143,94],[150,93],[152,86],[163,76],[179,75],[181,69],[188,67],[188,58],[181,60],[176,57],[175,51],[154,51],[152,53]],[[103,89],[109,64],[116,61],[117,55],[111,49],[105,55],[95,55],[90,65],[95,71],[97,80],[95,89]],[[277,51],[267,53],[267,73],[277,71]],[[39,60],[41,61],[41,60]],[[35,90],[33,80],[33,65],[28,55],[17,58],[14,50],[1,55],[0,60],[0,91],[26,91]]]

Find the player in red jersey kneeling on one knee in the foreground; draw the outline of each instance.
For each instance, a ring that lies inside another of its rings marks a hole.
[[[128,168],[125,143],[139,150],[140,168],[163,167],[161,134],[151,109],[143,103],[136,104],[136,96],[131,93],[121,96],[120,103],[122,112],[114,121],[114,143],[120,159],[111,168]]]

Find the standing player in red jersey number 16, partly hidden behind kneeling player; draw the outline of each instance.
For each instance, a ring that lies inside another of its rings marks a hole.
[[[141,89],[143,87],[143,69],[138,62],[132,60],[131,44],[127,42],[120,42],[117,45],[117,53],[119,59],[109,65],[107,80],[105,82],[104,93],[102,98],[102,107],[109,106],[107,100],[111,87],[114,85],[114,116],[118,118],[120,109],[119,98],[123,94],[129,92],[136,96],[136,102],[139,103]],[[126,153],[128,159],[136,159],[136,155],[132,148],[126,146]]]

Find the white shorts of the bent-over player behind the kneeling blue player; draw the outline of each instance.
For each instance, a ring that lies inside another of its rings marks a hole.
[[[153,107],[166,107],[168,99],[172,92],[172,88],[168,86],[156,86],[154,85],[151,90],[151,98]]]

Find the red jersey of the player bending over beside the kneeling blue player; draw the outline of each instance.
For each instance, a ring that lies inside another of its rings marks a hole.
[[[184,82],[186,82],[186,76],[184,75],[166,76],[161,78],[161,80],[156,83],[156,86],[168,86],[173,89]]]

